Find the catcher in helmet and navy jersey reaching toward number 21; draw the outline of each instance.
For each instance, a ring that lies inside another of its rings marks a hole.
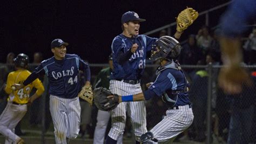
[[[179,53],[180,45],[176,39],[169,36],[159,38],[151,55],[152,60],[160,60],[156,81],[147,84],[149,89],[144,92],[119,96],[119,102],[141,101],[156,96],[169,106],[166,117],[140,136],[143,143],[171,143],[192,124],[194,116],[188,99],[188,82],[178,61],[175,61]]]

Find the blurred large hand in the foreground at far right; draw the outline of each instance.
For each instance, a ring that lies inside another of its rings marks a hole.
[[[224,92],[237,94],[242,91],[242,85],[252,85],[249,73],[240,66],[228,66],[220,69],[218,84]]]

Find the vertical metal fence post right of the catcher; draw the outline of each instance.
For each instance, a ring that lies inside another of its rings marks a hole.
[[[212,119],[212,63],[208,64],[208,97],[207,97],[207,138],[206,143],[211,143]]]

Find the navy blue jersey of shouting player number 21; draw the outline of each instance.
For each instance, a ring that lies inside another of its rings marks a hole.
[[[125,37],[119,34],[112,42],[112,55],[114,69],[111,73],[110,79],[124,79],[124,80],[138,80],[145,68],[146,52],[151,51],[152,45],[156,42],[156,38],[150,38],[146,35],[137,35],[134,38]],[[138,44],[138,49],[132,54],[130,59],[123,65],[117,61],[117,56],[120,51],[124,53],[130,51],[133,44]]]

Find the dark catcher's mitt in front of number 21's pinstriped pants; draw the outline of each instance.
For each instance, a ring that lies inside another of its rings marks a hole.
[[[113,98],[107,98],[107,96],[113,95]],[[117,107],[118,105],[118,95],[113,94],[108,89],[97,88],[93,90],[94,103],[99,110],[110,111]]]

